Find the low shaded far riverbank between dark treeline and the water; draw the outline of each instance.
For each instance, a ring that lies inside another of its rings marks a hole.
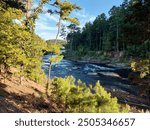
[[[110,67],[118,68],[130,68],[130,63],[132,58],[125,56],[123,52],[93,52],[89,51],[87,53],[79,52],[66,52],[64,53],[65,59],[92,63],[92,64],[105,64]]]

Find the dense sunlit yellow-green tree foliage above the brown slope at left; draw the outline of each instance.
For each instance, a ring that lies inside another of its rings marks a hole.
[[[0,16],[0,64],[6,71],[15,67],[18,75],[41,82],[42,50],[46,49],[46,43],[27,30],[21,10],[0,8]]]

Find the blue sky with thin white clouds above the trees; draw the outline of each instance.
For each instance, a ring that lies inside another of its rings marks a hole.
[[[37,1],[34,7],[37,6]],[[108,16],[108,11],[115,5],[119,6],[123,0],[68,0],[71,3],[79,5],[82,10],[72,12],[71,16],[76,17],[80,21],[80,27],[83,27],[86,22],[93,22],[101,13]],[[44,10],[51,9],[49,5],[44,6]],[[55,39],[57,34],[58,15],[49,15],[48,13],[40,14],[36,20],[35,32],[44,40]],[[64,25],[69,25],[69,22],[63,21]]]

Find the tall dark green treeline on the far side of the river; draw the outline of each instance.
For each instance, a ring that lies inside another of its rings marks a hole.
[[[109,17],[102,13],[81,29],[68,26],[68,49],[78,51],[124,51],[129,56],[148,57],[150,51],[150,1],[124,0],[113,6]]]

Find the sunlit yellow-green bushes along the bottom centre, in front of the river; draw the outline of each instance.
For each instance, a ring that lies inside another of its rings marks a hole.
[[[80,80],[75,83],[72,76],[55,78],[56,86],[53,93],[58,102],[65,105],[66,112],[127,112],[128,109],[120,110],[117,98],[112,98],[100,85],[87,87]]]

